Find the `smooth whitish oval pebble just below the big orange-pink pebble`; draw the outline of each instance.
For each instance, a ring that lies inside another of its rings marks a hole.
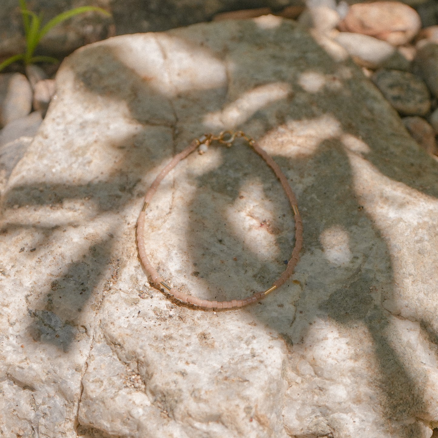
[[[368,35],[340,32],[334,37],[357,64],[367,68],[407,70],[410,62],[386,41]]]

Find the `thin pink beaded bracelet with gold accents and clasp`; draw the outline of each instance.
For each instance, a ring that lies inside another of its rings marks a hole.
[[[228,147],[233,144],[233,141],[236,138],[244,138],[248,144],[254,149],[254,152],[257,152],[258,155],[261,156],[266,162],[266,164],[271,167],[271,169],[276,174],[276,177],[279,179],[284,191],[286,192],[286,196],[289,199],[290,206],[292,207],[295,219],[295,247],[293,248],[292,256],[287,264],[286,271],[280,276],[278,280],[276,280],[272,286],[265,290],[265,292],[254,293],[251,297],[247,297],[244,300],[231,300],[231,301],[210,301],[210,300],[201,300],[200,298],[194,297],[192,295],[188,295],[187,293],[180,292],[174,287],[168,286],[164,283],[163,279],[158,275],[158,272],[155,268],[152,267],[149,259],[146,256],[145,251],[145,240],[143,237],[143,231],[145,228],[145,217],[146,217],[146,208],[149,205],[152,196],[155,194],[160,182],[162,179],[172,170],[182,159],[186,158],[187,155],[191,154],[196,148],[198,149],[199,154],[203,154],[206,152],[208,146],[212,143],[212,141],[219,141]],[[292,275],[293,268],[297,265],[298,262],[298,254],[300,253],[301,247],[303,245],[303,222],[301,220],[300,213],[298,212],[297,206],[297,198],[293,193],[289,183],[287,182],[287,178],[284,173],[281,171],[278,164],[261,148],[259,148],[255,141],[245,135],[242,131],[232,132],[232,131],[223,131],[219,135],[215,136],[212,134],[205,134],[200,138],[195,138],[187,148],[185,148],[182,152],[175,155],[173,160],[158,174],[149,188],[148,192],[145,196],[145,201],[143,204],[143,208],[141,209],[140,215],[137,220],[137,244],[138,244],[138,253],[140,255],[141,262],[143,263],[146,271],[152,277],[152,280],[155,284],[162,286],[170,295],[173,295],[177,300],[180,300],[184,303],[194,304],[195,306],[205,307],[205,308],[213,308],[213,309],[230,309],[233,307],[243,307],[247,304],[255,303],[258,300],[266,297],[268,293],[280,287],[286,280]]]

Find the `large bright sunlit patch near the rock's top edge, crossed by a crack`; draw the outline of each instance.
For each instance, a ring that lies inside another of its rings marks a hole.
[[[208,90],[226,85],[226,68],[211,51],[163,33],[130,35],[124,41],[106,42],[117,57],[162,95],[172,97],[191,90]],[[147,53],[138,53],[148,47]]]

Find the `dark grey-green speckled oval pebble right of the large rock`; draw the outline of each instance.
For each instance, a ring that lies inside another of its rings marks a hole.
[[[412,73],[379,70],[372,80],[400,114],[424,116],[431,109],[431,95],[426,84]]]

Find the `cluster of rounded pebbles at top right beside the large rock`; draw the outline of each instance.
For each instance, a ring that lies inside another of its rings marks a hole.
[[[422,28],[420,14],[395,1],[357,3],[343,11],[339,5],[316,7],[308,13],[327,14],[333,23],[338,14],[325,35],[364,68],[417,143],[438,155],[438,25]]]

